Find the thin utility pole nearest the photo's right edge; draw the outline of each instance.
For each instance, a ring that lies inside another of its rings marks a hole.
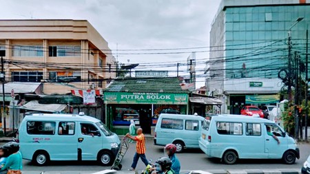
[[[308,141],[308,28],[306,30],[306,96],[305,96],[305,102],[306,102],[306,116],[304,116],[304,140]]]

